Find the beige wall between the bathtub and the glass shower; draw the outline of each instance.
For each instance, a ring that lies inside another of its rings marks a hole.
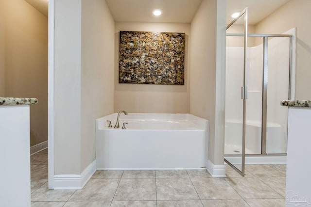
[[[224,163],[224,40],[225,1],[203,0],[191,22],[190,113],[209,121],[208,159],[214,164]]]

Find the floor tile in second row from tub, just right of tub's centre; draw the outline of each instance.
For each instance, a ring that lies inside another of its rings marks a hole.
[[[198,200],[190,178],[157,178],[157,200]]]

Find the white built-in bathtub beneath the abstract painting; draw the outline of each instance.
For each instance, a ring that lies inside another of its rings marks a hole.
[[[207,166],[208,120],[191,114],[122,113],[115,129],[116,119],[114,113],[96,120],[98,170]],[[126,129],[121,129],[124,122]]]

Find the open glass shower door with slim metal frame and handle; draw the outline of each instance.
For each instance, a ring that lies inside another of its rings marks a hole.
[[[228,35],[233,24],[244,25],[244,36]],[[226,42],[225,162],[244,176],[247,8],[227,26]]]

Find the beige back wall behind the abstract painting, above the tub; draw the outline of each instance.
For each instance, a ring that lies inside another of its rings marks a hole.
[[[119,83],[119,35],[120,31],[184,32],[185,80],[184,85],[150,85]],[[115,112],[141,113],[189,113],[190,24],[172,23],[128,23],[116,22],[115,26]],[[113,51],[113,50],[112,50]]]

